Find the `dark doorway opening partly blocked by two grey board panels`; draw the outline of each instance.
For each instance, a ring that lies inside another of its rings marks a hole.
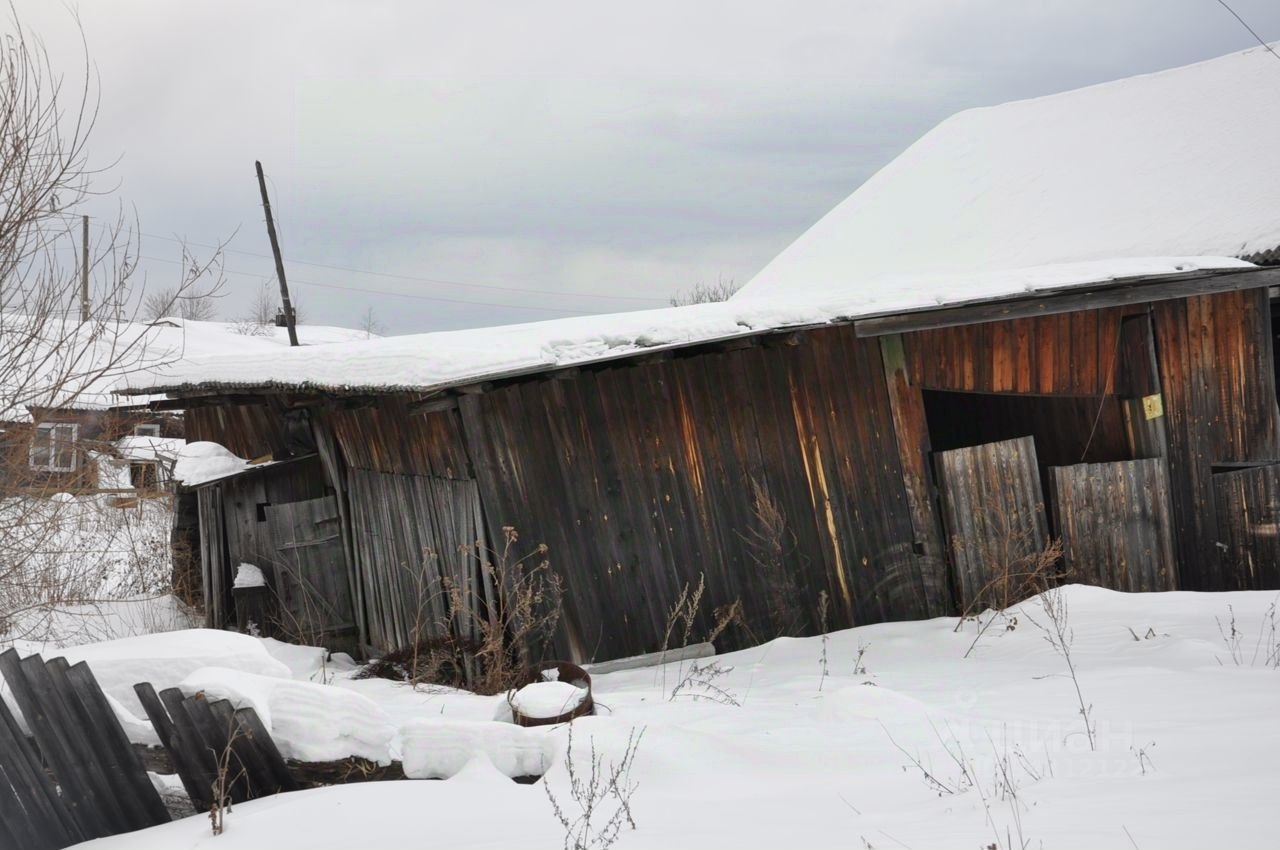
[[[995,602],[986,589],[1025,568],[1048,539],[1046,526],[1073,581],[1175,586],[1164,407],[1146,315],[1121,324],[1108,390],[923,390],[961,608]]]

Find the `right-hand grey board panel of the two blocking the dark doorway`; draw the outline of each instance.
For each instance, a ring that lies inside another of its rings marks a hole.
[[[1164,458],[1057,466],[1050,477],[1071,581],[1125,591],[1178,586]]]

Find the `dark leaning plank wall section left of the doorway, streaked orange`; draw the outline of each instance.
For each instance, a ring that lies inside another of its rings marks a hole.
[[[654,649],[686,582],[754,638],[945,609],[914,533],[876,341],[701,353],[463,397],[490,535],[550,547],[588,657]],[[785,517],[763,558],[758,499]],[[767,563],[762,563],[762,561]],[[742,638],[746,640],[748,638]]]

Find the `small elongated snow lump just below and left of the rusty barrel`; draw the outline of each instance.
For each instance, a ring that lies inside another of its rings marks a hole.
[[[504,776],[541,776],[553,763],[554,751],[547,727],[434,717],[401,727],[404,776],[411,780],[448,780],[477,754]]]

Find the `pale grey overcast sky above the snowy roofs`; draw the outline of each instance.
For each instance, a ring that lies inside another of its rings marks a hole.
[[[1280,3],[1231,5],[1280,38]],[[17,6],[74,73],[67,9]],[[232,233],[223,317],[274,285],[261,159],[303,319],[371,307],[388,333],[744,283],[951,113],[1257,44],[1216,0],[78,9],[101,79],[92,151],[119,160],[86,211],[137,209],[151,285],[178,268],[157,237]]]

